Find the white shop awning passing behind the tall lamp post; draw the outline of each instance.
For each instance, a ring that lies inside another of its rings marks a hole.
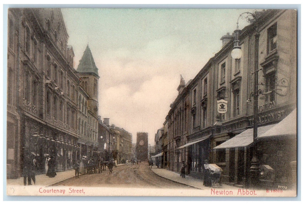
[[[275,125],[267,125],[257,128],[257,136],[264,134],[267,130],[271,129]],[[253,143],[253,128],[246,129],[244,132],[234,136],[226,142],[214,147],[213,149],[224,149],[233,147],[244,147]]]

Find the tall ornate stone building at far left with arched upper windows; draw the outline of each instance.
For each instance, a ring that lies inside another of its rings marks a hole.
[[[8,10],[8,178],[21,176],[25,156],[36,157],[36,174],[45,172],[47,154],[55,157],[56,171],[79,159],[78,140],[87,133],[85,102],[93,105],[92,116],[97,110],[95,96],[79,86],[68,37],[59,8]]]

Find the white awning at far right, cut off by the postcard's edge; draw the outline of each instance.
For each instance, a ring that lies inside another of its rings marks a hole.
[[[282,119],[274,127],[267,130],[257,138],[297,135],[297,109],[294,109],[288,116]]]

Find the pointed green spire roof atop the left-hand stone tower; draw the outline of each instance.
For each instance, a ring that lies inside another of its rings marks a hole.
[[[98,76],[98,68],[95,65],[89,45],[87,45],[87,48],[79,61],[77,72],[95,73]]]

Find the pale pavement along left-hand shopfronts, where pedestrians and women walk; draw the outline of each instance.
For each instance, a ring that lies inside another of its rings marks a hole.
[[[117,166],[122,166],[125,164],[117,164]],[[114,166],[115,168],[115,166]],[[108,170],[108,168],[106,167],[106,170]],[[59,183],[61,181],[70,179],[75,177],[75,170],[67,170],[67,171],[63,171],[63,172],[56,172],[56,176],[54,178],[50,178],[48,176],[46,176],[45,174],[40,174],[40,175],[36,175],[36,185],[40,185],[40,186],[51,186],[53,184]],[[79,176],[81,176],[82,174],[79,173]],[[23,177],[20,177],[18,179],[6,179],[6,185],[20,185],[20,186],[24,186],[23,185]],[[34,185],[33,181],[32,181],[32,185]]]

